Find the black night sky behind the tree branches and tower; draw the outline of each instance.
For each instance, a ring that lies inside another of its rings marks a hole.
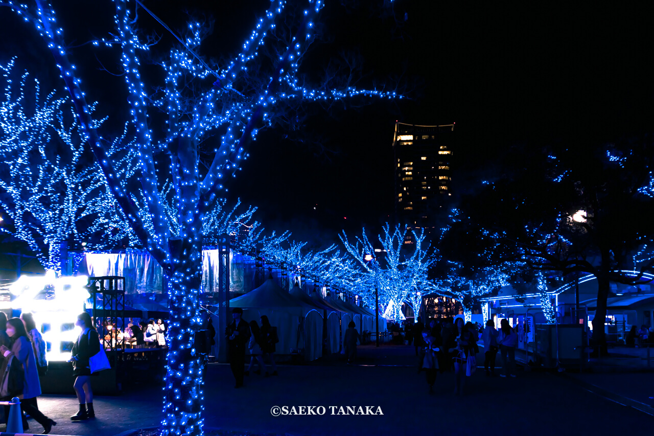
[[[54,2],[68,23],[68,41],[82,43],[111,26],[111,3],[88,3]],[[341,228],[356,231],[363,224],[392,221],[395,120],[456,122],[454,177],[466,179],[518,143],[606,142],[653,130],[651,10],[396,1],[396,26],[371,9],[345,9],[341,3],[375,2],[327,1],[322,16],[332,41],[315,46],[305,73],[319,75],[324,62],[341,50],[355,51],[363,60],[362,86],[398,82],[411,99],[329,112],[309,108],[305,128],[321,138],[322,146],[284,139],[279,130],[260,133],[230,195],[259,206],[258,219],[267,228],[289,229],[298,240],[318,242]],[[215,58],[233,54],[268,5],[145,4],[173,28],[182,26],[184,10],[203,10],[215,18],[211,44],[203,53]],[[107,18],[97,20],[103,14]],[[43,43],[34,31],[18,23],[9,10],[1,10],[0,62],[18,54],[28,69],[44,74],[48,52],[38,46]],[[101,101],[100,111],[119,118],[116,86],[124,88],[122,79],[98,71],[99,61],[93,56],[83,61],[85,48],[77,50],[75,62],[94,77],[85,81],[90,100]],[[100,57],[112,71],[110,59]],[[113,104],[103,107],[103,101]],[[466,174],[457,175],[461,172]]]

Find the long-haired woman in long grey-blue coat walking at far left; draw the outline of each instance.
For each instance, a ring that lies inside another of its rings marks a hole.
[[[39,370],[37,369],[37,361],[34,357],[34,351],[29,342],[25,325],[20,318],[11,318],[7,321],[7,335],[10,338],[10,348],[4,345],[0,346],[0,354],[4,358],[0,371],[2,374],[5,373],[7,365],[9,365],[12,358],[18,359],[22,364],[24,369],[24,386],[22,395],[18,395],[21,399],[20,407],[23,412],[29,414],[29,416],[43,426],[43,434],[47,435],[52,430],[52,426],[56,426],[57,423],[41,413],[37,405],[37,397],[41,395]],[[6,412],[5,414],[7,415]],[[28,428],[27,419],[23,415],[23,429],[26,430]]]

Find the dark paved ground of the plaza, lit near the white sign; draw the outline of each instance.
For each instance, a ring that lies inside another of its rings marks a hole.
[[[418,432],[531,436],[585,435],[591,431],[646,435],[652,434],[654,427],[654,417],[584,390],[560,374],[519,371],[517,378],[490,378],[477,371],[468,380],[464,397],[453,395],[452,373],[439,374],[436,393],[429,395],[424,373],[417,374],[410,366],[415,361],[413,348],[382,346],[375,350],[374,346],[365,346],[360,347],[359,354],[360,363],[375,366],[345,365],[336,358],[326,359],[324,365],[280,366],[279,376],[250,376],[245,388],[239,390],[233,389],[228,365],[211,364],[205,388],[206,426],[296,436]],[[634,386],[642,395],[654,386],[654,378],[624,375],[632,377],[618,380],[617,384]],[[624,392],[629,393],[626,388]],[[159,388],[127,391],[120,397],[96,397],[98,418],[85,423],[69,421],[77,410],[77,401],[72,397],[44,395],[39,398],[39,406],[59,423],[53,433],[113,436],[128,429],[156,426],[160,398]],[[272,416],[271,408],[275,406],[324,406],[326,413]],[[332,415],[330,406],[380,407],[383,415]],[[33,431],[41,431],[41,426],[30,423]]]

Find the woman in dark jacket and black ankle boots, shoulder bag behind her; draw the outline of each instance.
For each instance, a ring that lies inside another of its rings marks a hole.
[[[69,362],[73,363],[73,375],[77,377],[73,388],[77,393],[80,409],[71,416],[71,420],[82,421],[95,418],[89,359],[100,352],[100,340],[97,331],[93,327],[91,316],[86,312],[82,312],[77,316],[75,325],[82,328],[82,333],[80,333],[73,345],[73,357]]]

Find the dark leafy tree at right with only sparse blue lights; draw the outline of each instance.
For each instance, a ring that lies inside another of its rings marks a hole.
[[[606,351],[610,283],[648,283],[654,228],[650,219],[651,136],[615,143],[578,141],[522,147],[504,176],[477,197],[475,219],[501,229],[509,250],[545,275],[585,272],[598,282],[593,340]],[[483,210],[483,212],[482,212]]]

